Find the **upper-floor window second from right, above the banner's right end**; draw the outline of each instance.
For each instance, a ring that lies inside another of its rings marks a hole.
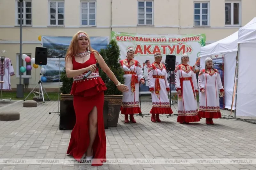
[[[194,4],[194,26],[209,26],[209,3]]]

